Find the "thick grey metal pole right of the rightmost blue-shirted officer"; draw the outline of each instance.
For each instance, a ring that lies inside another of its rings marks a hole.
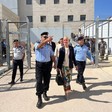
[[[96,19],[95,66],[98,67],[99,18]]]

